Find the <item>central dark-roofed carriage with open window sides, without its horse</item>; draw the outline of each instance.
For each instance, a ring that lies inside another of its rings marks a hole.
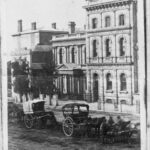
[[[69,103],[62,107],[64,121],[63,132],[66,136],[73,136],[76,130],[83,130],[87,127],[89,105]]]

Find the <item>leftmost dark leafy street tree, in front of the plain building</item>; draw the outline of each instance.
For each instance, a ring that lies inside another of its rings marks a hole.
[[[13,77],[14,77],[14,92],[18,93],[20,96],[20,101],[22,102],[22,96],[25,95],[26,100],[28,100],[29,93],[29,65],[26,59],[19,58],[15,60],[12,64]]]

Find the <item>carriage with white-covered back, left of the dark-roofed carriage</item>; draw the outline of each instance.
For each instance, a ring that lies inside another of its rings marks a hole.
[[[23,121],[26,128],[45,127],[47,121],[52,124],[56,123],[54,113],[46,112],[44,109],[44,100],[33,100],[23,103]]]

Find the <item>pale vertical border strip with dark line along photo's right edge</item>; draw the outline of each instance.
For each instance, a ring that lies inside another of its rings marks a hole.
[[[138,0],[141,150],[150,150],[150,1]]]

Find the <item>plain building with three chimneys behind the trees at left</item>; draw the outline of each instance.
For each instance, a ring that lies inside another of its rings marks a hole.
[[[24,59],[29,64],[33,76],[38,76],[43,72],[44,66],[54,65],[52,59],[52,45],[50,43],[52,36],[67,33],[68,31],[58,30],[56,23],[53,23],[50,29],[41,29],[36,27],[36,22],[33,22],[31,23],[31,29],[23,30],[23,22],[19,20],[18,32],[12,35],[14,39],[14,50],[11,52],[11,57],[15,61]],[[13,59],[8,62],[8,66],[14,61]],[[13,80],[10,80],[12,79],[10,73],[11,68],[8,68],[8,85],[12,85]],[[9,86],[9,88],[12,88],[12,86]],[[11,91],[13,92],[13,89],[11,89]],[[13,93],[13,95],[15,95],[15,93]]]

